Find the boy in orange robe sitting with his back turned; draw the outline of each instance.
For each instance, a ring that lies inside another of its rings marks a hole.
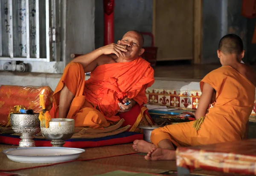
[[[255,99],[256,74],[240,63],[243,43],[235,34],[221,38],[217,51],[221,68],[211,71],[200,82],[202,95],[195,121],[167,125],[151,133],[151,142],[135,140],[136,151],[148,153],[147,160],[175,159],[179,146],[209,145],[242,140],[248,128]],[[214,100],[212,108],[207,109]]]

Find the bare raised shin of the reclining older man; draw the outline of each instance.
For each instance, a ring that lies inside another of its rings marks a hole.
[[[59,104],[59,116],[58,118],[66,118],[67,113],[70,109],[70,104],[74,99],[74,95],[64,84],[63,88],[60,91],[60,104]]]

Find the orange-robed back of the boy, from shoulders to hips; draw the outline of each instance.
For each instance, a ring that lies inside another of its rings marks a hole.
[[[216,102],[198,131],[200,144],[243,139],[255,99],[255,76],[247,67],[244,64],[236,69],[223,66],[201,81],[201,89],[204,83],[215,89]]]

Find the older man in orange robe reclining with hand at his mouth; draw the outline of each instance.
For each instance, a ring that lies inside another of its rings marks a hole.
[[[140,57],[143,43],[140,32],[128,31],[117,44],[75,58],[53,93],[51,116],[75,119],[75,127],[104,129],[120,120],[118,113],[143,108],[145,90],[154,83],[153,68]],[[85,80],[87,72],[91,75]],[[130,118],[138,125],[137,116]]]

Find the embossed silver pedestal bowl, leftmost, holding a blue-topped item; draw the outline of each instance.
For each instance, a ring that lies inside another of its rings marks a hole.
[[[10,114],[12,130],[21,134],[19,147],[35,147],[34,135],[40,132],[39,114]]]

